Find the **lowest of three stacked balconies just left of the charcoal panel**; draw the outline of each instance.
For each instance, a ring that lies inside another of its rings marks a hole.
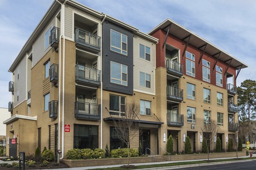
[[[76,101],[75,118],[100,119],[100,105]]]

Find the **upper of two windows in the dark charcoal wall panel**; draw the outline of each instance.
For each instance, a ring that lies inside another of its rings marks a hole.
[[[112,51],[127,55],[127,36],[111,30],[110,49]]]

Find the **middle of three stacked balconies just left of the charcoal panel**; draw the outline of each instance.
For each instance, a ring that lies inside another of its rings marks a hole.
[[[100,70],[87,68],[81,65],[76,65],[75,80],[79,84],[98,87],[100,85],[100,76]]]

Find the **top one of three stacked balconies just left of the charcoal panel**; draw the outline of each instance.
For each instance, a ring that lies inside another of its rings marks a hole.
[[[95,53],[100,51],[101,37],[87,31],[76,28],[75,31],[76,46]]]

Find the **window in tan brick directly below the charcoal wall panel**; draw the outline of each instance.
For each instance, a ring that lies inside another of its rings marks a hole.
[[[112,115],[125,116],[125,97],[110,94],[109,110]]]

